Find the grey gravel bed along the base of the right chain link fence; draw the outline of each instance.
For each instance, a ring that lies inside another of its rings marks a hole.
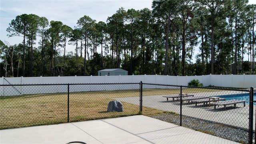
[[[177,114],[159,114],[151,117],[165,122],[180,125],[180,116]],[[226,126],[224,124],[206,122],[204,120],[198,120],[196,118],[186,116],[182,116],[182,126],[207,134],[212,134],[220,138],[225,138],[227,140],[232,140],[234,142],[248,144],[249,134],[248,131],[246,130],[233,128],[231,126]],[[254,136],[255,134],[253,134],[253,139],[255,139]]]

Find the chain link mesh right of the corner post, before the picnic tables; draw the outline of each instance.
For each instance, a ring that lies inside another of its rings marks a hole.
[[[143,88],[143,108],[157,109],[161,114],[169,113],[173,116],[179,116],[182,113],[182,116],[197,118],[198,120],[248,129],[250,94],[248,90],[188,88],[151,84],[143,84]],[[180,97],[181,93],[182,96]],[[214,106],[215,103],[228,103],[229,100],[234,99],[244,100],[244,102],[227,104],[226,108],[224,108],[224,105]],[[181,108],[182,110],[180,110]],[[155,115],[156,112],[154,110],[149,112],[143,110],[143,114],[151,116]]]

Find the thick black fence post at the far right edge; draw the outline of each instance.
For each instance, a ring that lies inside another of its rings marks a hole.
[[[250,102],[249,102],[249,144],[252,144],[253,137],[253,87],[250,88]]]

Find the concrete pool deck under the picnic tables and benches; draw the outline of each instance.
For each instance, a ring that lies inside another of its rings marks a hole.
[[[234,91],[233,93],[235,93]],[[241,92],[240,92],[241,93]],[[201,92],[201,93],[191,93],[195,96],[218,96],[219,92]],[[232,92],[228,92],[228,94],[232,94]],[[139,97],[127,97],[127,98],[116,98],[121,102],[128,102],[132,104],[139,105],[140,98]],[[156,108],[158,110],[164,110],[169,112],[176,112],[180,114],[180,102],[172,102],[167,101],[163,95],[156,96],[143,96],[143,106],[149,108]],[[254,105],[254,110],[256,109]],[[143,110],[142,110],[143,111]],[[217,122],[220,124],[226,124],[242,129],[249,128],[249,105],[246,104],[236,104],[236,108],[234,105],[227,106],[227,110],[224,110],[223,106],[217,107],[214,109],[214,106],[198,104],[196,106],[195,103],[183,103],[182,104],[182,115],[191,116],[193,118],[199,118],[202,120]],[[253,129],[255,130],[255,112],[253,116]]]

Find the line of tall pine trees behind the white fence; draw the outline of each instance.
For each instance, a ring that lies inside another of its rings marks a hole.
[[[23,41],[0,40],[0,74],[88,76],[104,68],[174,76],[255,74],[255,22],[256,5],[248,0],[154,0],[152,10],[119,8],[106,23],[85,15],[74,28],[22,14],[6,31]]]

